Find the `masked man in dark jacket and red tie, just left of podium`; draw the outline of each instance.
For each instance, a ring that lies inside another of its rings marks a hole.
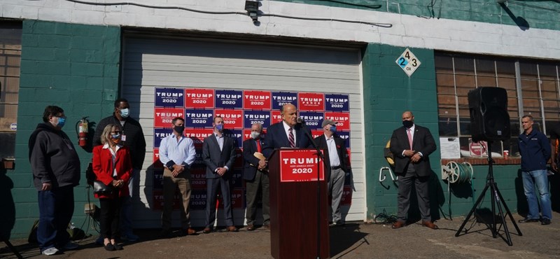
[[[262,142],[260,134],[262,133],[262,124],[255,123],[251,125],[251,139],[243,141],[243,179],[247,188],[247,211],[245,218],[247,220],[246,230],[255,230],[255,216],[257,214],[257,195],[260,190],[262,195],[262,225],[269,228],[270,223],[270,202],[269,202],[269,179],[268,173],[265,171],[267,163],[255,157],[255,152],[262,153]]]

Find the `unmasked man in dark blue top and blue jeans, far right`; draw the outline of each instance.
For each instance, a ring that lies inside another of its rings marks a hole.
[[[524,130],[519,135],[521,176],[523,177],[523,189],[527,197],[529,212],[526,218],[519,220],[519,223],[537,222],[540,219],[542,225],[549,225],[552,219],[547,176],[547,162],[551,152],[550,144],[545,134],[533,129],[532,116],[523,116],[521,125]],[[540,194],[542,217],[539,217],[538,214],[539,204],[535,193],[535,183]]]

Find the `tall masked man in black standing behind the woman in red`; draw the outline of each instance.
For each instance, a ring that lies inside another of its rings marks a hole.
[[[132,198],[139,195],[137,186],[137,179],[139,179],[140,170],[144,164],[146,157],[146,139],[142,126],[137,120],[130,118],[130,105],[127,99],[120,98],[115,101],[115,109],[113,115],[102,120],[99,120],[93,136],[93,146],[101,145],[101,134],[106,125],[109,124],[120,125],[122,136],[121,144],[130,148],[130,158],[132,158],[132,176],[128,183],[130,196],[123,201],[122,211],[120,213],[120,232],[121,238],[128,241],[138,241],[139,237],[132,232]],[[99,241],[99,239],[98,239]]]

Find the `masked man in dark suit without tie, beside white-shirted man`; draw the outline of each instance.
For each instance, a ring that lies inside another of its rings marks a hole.
[[[202,144],[202,160],[206,164],[206,227],[204,234],[212,231],[216,220],[216,195],[218,188],[222,190],[223,209],[226,231],[237,232],[233,224],[232,196],[230,191],[231,171],[235,160],[233,139],[223,134],[223,118],[214,117],[214,132],[204,139]]]

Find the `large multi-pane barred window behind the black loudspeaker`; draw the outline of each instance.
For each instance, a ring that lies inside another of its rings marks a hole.
[[[503,151],[519,157],[522,116],[533,116],[534,127],[547,135],[547,129],[559,123],[558,61],[435,52],[435,73],[440,137],[458,137],[463,158],[482,156],[472,152],[470,139],[468,92],[475,87],[502,87],[507,92],[512,135],[491,146],[493,157],[501,157]]]

